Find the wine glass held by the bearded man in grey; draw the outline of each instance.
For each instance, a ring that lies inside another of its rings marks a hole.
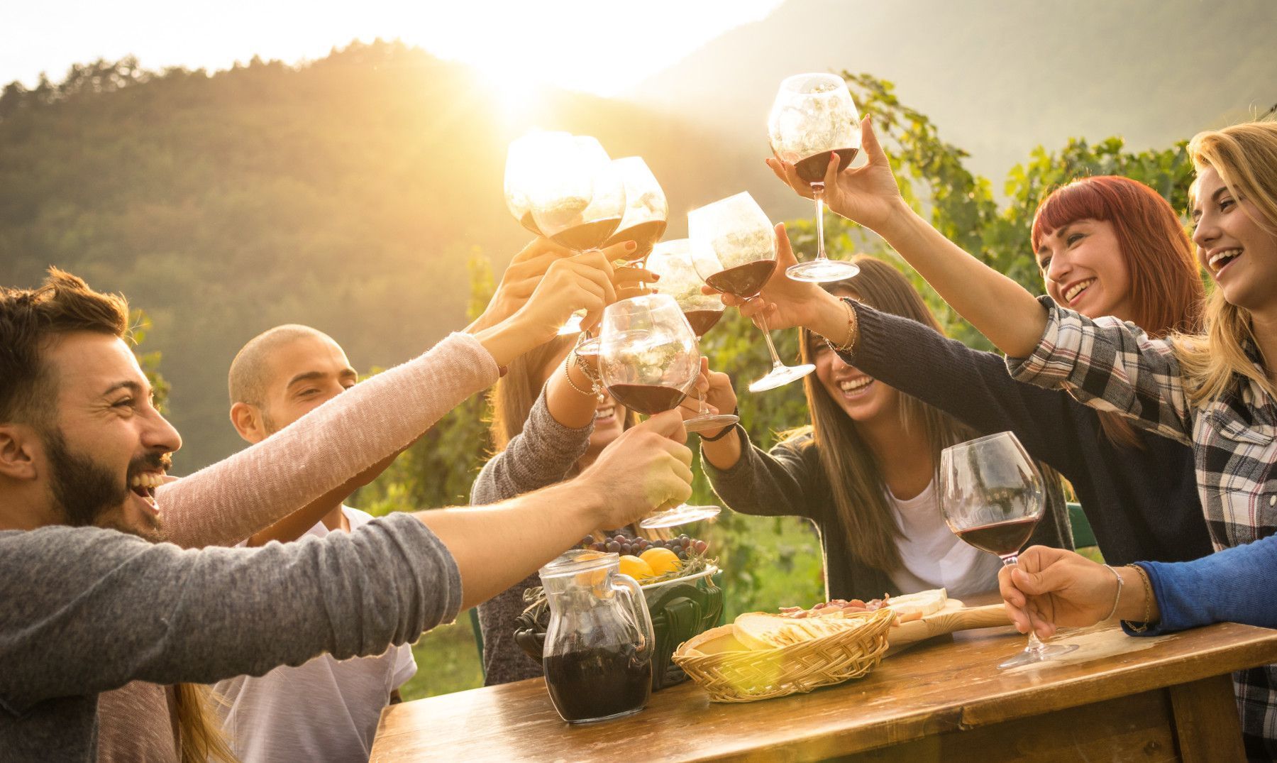
[[[700,378],[696,334],[667,294],[641,294],[609,304],[599,330],[599,374],[608,394],[630,410],[651,415],[683,401]],[[718,506],[676,506],[638,523],[663,528],[706,519]]]

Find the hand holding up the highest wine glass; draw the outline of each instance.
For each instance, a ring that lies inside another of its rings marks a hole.
[[[861,151],[868,162],[859,167],[847,167],[842,173],[838,171],[839,156],[830,156],[825,169],[825,203],[838,215],[881,233],[888,221],[907,207],[891,171],[891,162],[879,144],[868,115],[861,120]],[[798,176],[792,162],[776,157],[766,162],[776,178],[798,196],[812,197],[811,184]]]

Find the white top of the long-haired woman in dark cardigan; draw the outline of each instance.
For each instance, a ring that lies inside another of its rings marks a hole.
[[[949,529],[936,501],[933,479],[908,501],[896,498],[891,491],[886,498],[904,536],[899,541],[900,569],[890,575],[902,593],[948,588],[949,596],[962,598],[997,589],[1002,560],[968,546]]]

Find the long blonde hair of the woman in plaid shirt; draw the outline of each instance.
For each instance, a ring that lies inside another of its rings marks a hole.
[[[1235,197],[1254,203],[1264,217],[1255,222],[1277,235],[1277,121],[1249,121],[1198,133],[1189,141],[1189,156],[1199,173],[1214,169]],[[1197,185],[1190,196],[1195,206]],[[1189,399],[1198,405],[1218,400],[1231,390],[1235,374],[1277,397],[1268,376],[1246,354],[1246,344],[1254,341],[1250,311],[1230,303],[1223,290],[1213,285],[1205,305],[1205,334],[1174,337]],[[1274,363],[1277,358],[1264,358],[1269,369]]]

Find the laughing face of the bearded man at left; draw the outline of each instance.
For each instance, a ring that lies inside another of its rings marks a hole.
[[[60,521],[161,538],[155,488],[181,437],[155,408],[128,345],[68,334],[45,355],[57,380],[56,414],[41,433],[45,483]]]

